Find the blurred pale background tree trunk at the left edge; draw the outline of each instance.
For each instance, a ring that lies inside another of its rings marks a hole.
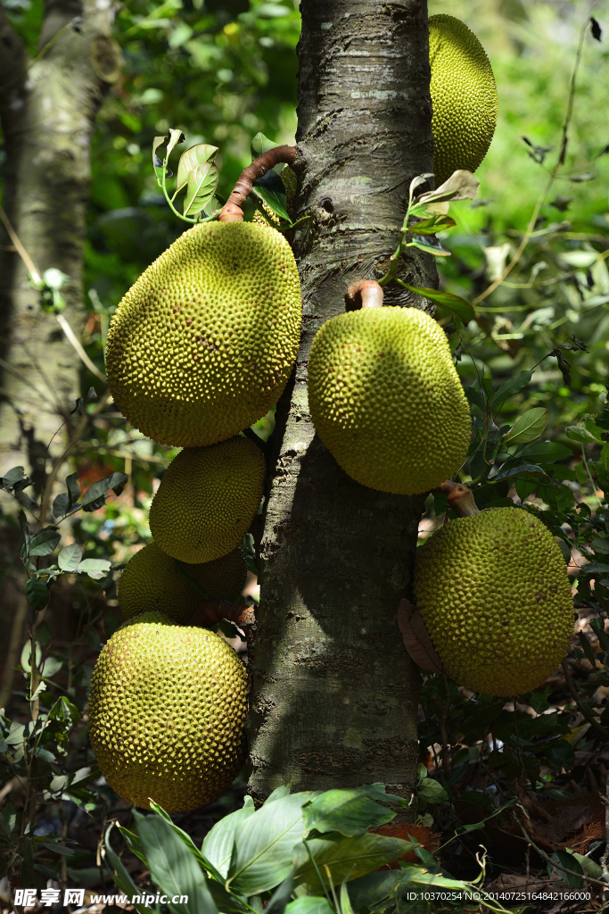
[[[63,314],[79,336],[90,138],[121,55],[110,38],[110,0],[48,0],[45,13],[32,60],[0,7],[4,208],[37,270],[56,267],[68,275]],[[0,230],[0,475],[29,464],[39,486],[47,444],[79,396],[80,363],[56,315],[41,310],[6,228]]]

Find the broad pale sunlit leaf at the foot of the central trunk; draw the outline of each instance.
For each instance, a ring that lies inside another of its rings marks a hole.
[[[292,868],[291,850],[302,839],[302,806],[320,791],[292,793],[265,803],[237,825],[226,887],[255,895],[278,886]]]

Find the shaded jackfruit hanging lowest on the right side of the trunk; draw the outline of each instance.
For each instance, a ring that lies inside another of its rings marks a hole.
[[[516,696],[567,653],[573,599],[550,530],[522,508],[457,517],[417,550],[415,600],[446,674]]]

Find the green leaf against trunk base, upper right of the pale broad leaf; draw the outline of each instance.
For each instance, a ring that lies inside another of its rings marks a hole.
[[[326,791],[303,807],[302,821],[308,830],[316,828],[318,832],[363,834],[369,828],[391,822],[395,816],[390,809],[379,806],[374,800],[391,802],[399,799],[386,794],[383,784]]]

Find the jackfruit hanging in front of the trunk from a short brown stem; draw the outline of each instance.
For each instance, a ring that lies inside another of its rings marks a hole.
[[[313,340],[315,430],[358,483],[426,492],[466,459],[471,422],[446,334],[416,308],[332,317]]]

